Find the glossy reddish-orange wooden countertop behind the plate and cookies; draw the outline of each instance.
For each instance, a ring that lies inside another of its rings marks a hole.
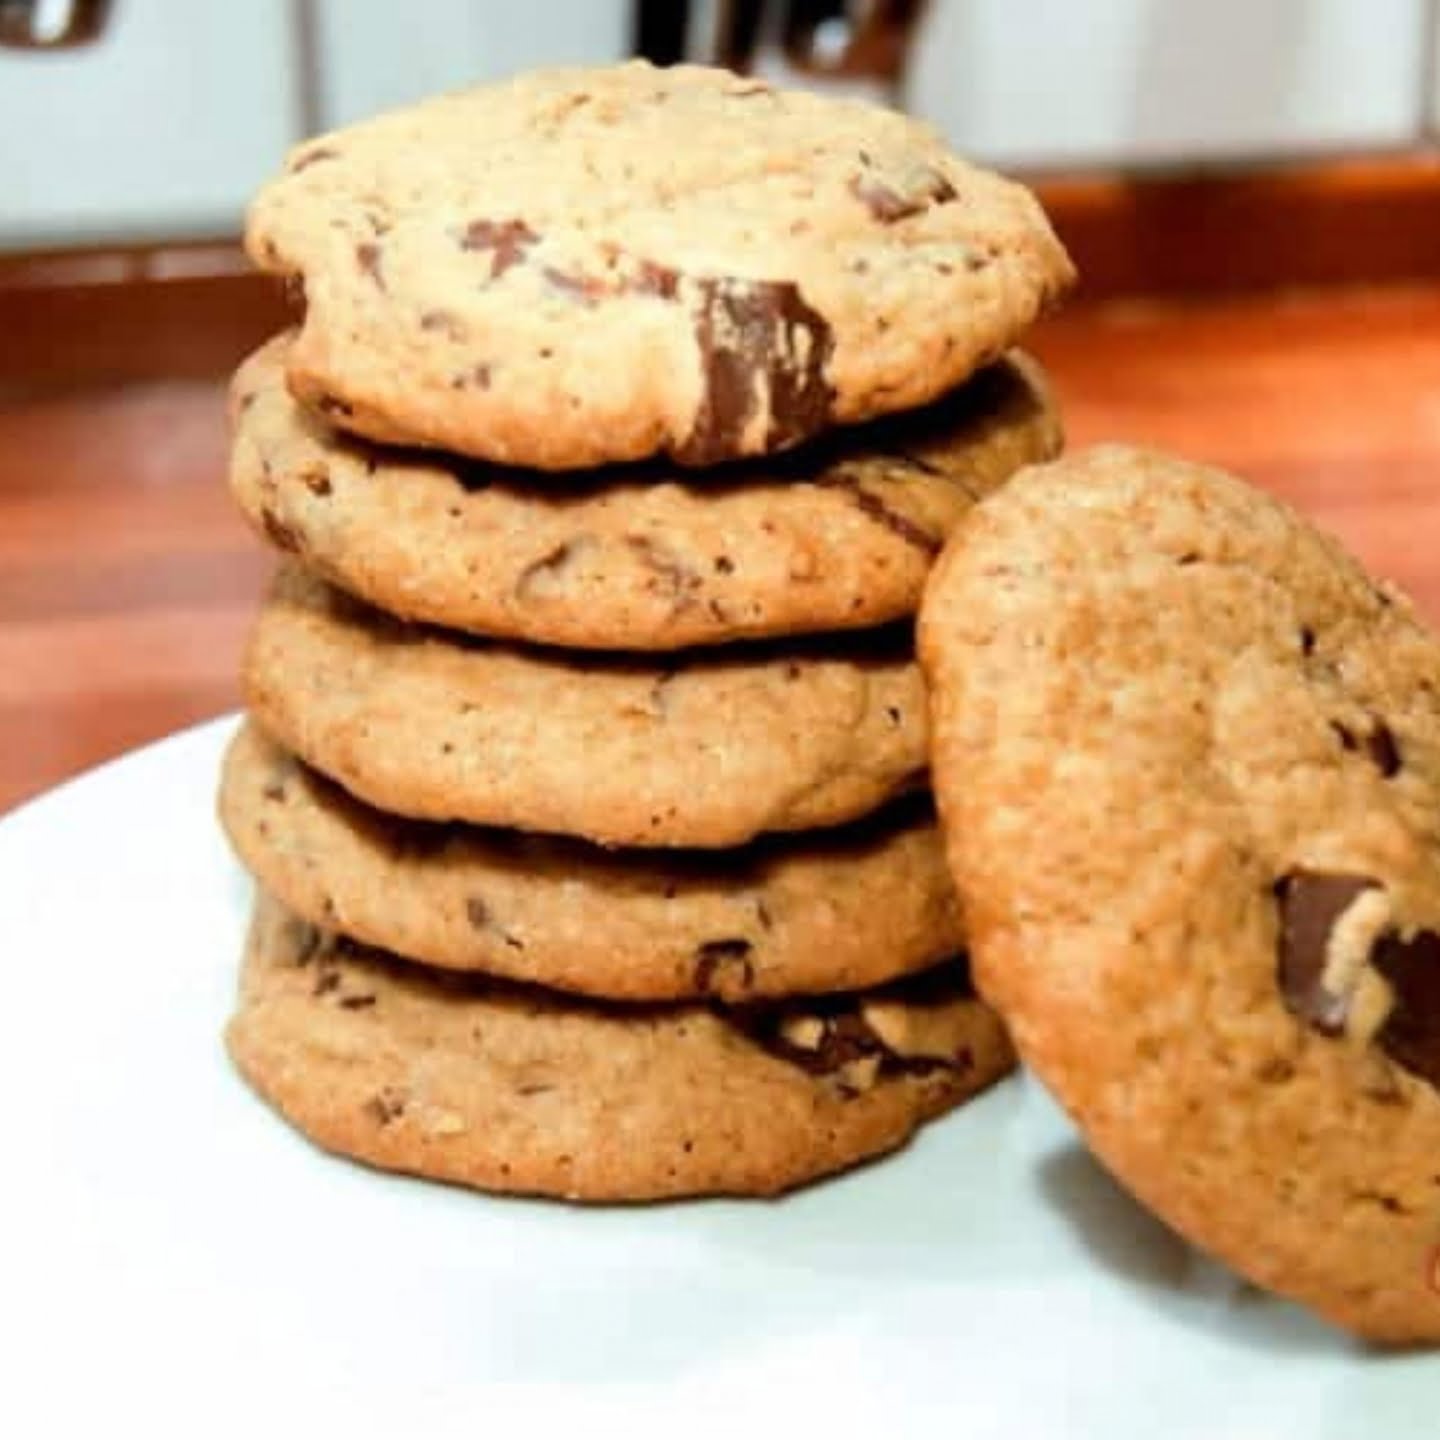
[[[1440,624],[1440,288],[1116,302],[1034,348],[1073,445],[1228,467]],[[269,562],[222,406],[220,379],[0,396],[0,811],[236,704]]]

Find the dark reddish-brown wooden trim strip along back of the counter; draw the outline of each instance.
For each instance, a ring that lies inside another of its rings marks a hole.
[[[1034,184],[1077,304],[1440,279],[1436,154]],[[0,392],[213,377],[285,323],[232,238],[0,256]]]

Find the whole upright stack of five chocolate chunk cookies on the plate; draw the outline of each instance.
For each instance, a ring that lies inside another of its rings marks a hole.
[[[553,71],[315,140],[256,200],[300,328],[233,384],[285,552],[222,815],[229,1041],[376,1165],[769,1194],[1004,1074],[912,619],[1058,423],[1070,281],[923,127],[719,71]]]

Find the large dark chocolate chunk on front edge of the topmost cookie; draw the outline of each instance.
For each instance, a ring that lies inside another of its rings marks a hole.
[[[746,426],[769,409],[766,449],[814,435],[829,419],[829,324],[789,281],[697,279],[696,344],[704,393],[675,458],[713,465],[734,456]]]

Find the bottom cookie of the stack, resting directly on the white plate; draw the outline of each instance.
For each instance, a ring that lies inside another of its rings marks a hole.
[[[1014,1066],[963,962],[736,1009],[431,971],[261,897],[230,1054],[325,1149],[586,1201],[773,1195],[901,1145]]]

